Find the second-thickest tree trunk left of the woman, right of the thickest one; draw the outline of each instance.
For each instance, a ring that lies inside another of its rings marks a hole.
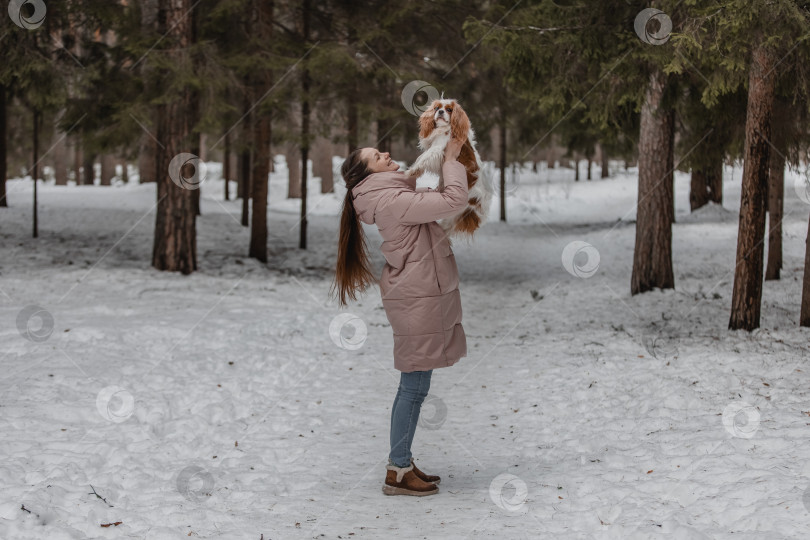
[[[262,42],[269,43],[273,30],[273,2],[271,0],[255,0],[253,2],[254,19],[251,34]],[[273,86],[271,74],[262,70],[255,75],[254,95],[263,96]],[[271,142],[270,113],[256,111],[253,123],[253,141],[256,155],[253,160],[253,174],[251,186],[253,191],[253,221],[250,227],[250,256],[259,261],[267,262],[267,179],[270,175],[270,142]]]

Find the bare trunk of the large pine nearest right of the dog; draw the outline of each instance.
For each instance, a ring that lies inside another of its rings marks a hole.
[[[638,210],[630,292],[672,289],[674,111],[663,109],[667,76],[650,74],[638,141]]]

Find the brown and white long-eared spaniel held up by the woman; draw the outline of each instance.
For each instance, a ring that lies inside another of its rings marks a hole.
[[[468,206],[440,224],[449,235],[472,237],[489,215],[492,190],[486,185],[486,178],[481,178],[483,164],[475,148],[475,132],[470,119],[456,100],[437,99],[419,117],[419,126],[419,149],[422,154],[405,174],[418,177],[426,172],[434,173],[439,177],[439,191],[444,189],[444,149],[451,137],[464,141],[457,159],[467,170]]]

